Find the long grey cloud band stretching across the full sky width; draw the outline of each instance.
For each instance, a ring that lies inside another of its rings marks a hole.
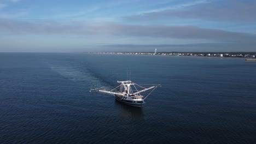
[[[0,19],[1,33],[124,35],[151,38],[206,39],[225,43],[256,43],[256,35],[192,26],[90,25],[86,22],[26,22]]]

